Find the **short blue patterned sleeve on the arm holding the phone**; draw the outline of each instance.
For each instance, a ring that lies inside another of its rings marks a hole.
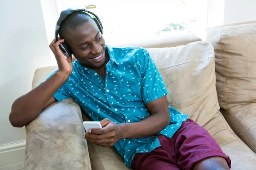
[[[140,57],[141,96],[144,103],[152,102],[168,94],[157,66],[147,50],[142,49]]]

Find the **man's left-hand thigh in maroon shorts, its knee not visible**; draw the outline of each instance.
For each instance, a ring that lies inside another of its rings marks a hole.
[[[137,153],[131,167],[133,170],[181,170],[162,147],[150,153]]]

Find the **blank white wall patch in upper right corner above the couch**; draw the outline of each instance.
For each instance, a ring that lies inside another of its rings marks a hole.
[[[224,25],[256,20],[256,0],[225,0]]]

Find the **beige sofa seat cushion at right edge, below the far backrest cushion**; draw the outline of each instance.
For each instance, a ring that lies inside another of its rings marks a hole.
[[[221,111],[236,134],[256,153],[256,103]]]

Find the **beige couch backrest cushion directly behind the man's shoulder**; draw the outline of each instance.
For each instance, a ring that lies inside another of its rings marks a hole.
[[[209,42],[147,50],[166,83],[171,107],[189,114],[200,125],[218,113],[214,49]]]

